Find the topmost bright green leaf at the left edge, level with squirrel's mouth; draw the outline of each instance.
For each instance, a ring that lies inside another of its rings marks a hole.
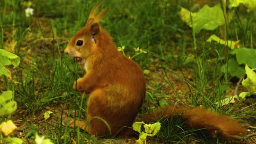
[[[19,65],[19,63],[20,63],[19,56],[13,53],[10,53],[8,51],[5,51],[3,49],[0,49],[0,67],[12,64],[15,68]]]

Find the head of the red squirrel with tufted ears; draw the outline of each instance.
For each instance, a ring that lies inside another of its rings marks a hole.
[[[69,41],[64,52],[73,57],[75,61],[84,64],[88,56],[97,51],[98,38],[101,32],[99,21],[106,11],[106,8],[97,13],[100,4],[96,4],[85,24]]]

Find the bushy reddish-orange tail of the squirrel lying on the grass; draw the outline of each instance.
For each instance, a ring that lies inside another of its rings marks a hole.
[[[240,134],[248,130],[235,120],[231,120],[226,115],[209,112],[198,107],[173,107],[158,109],[154,112],[144,115],[144,122],[154,122],[161,117],[181,115],[182,120],[188,128],[201,129],[206,128],[211,135],[216,137],[217,134],[227,139],[241,139]]]

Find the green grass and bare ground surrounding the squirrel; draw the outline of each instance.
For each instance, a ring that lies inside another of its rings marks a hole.
[[[33,18],[25,16],[27,4],[23,0],[5,0],[5,6],[1,3],[3,0],[0,1],[0,48],[11,50],[20,56],[21,64],[12,70],[13,80],[19,84],[9,83],[5,78],[5,88],[0,90],[14,89],[18,106],[27,112],[24,140],[31,143],[35,132],[38,132],[56,144],[69,144],[73,140],[78,144],[101,143],[95,136],[65,126],[67,121],[59,120],[56,116],[62,117],[68,110],[72,117],[86,117],[86,99],[82,99],[80,93],[72,90],[74,81],[83,76],[84,70],[63,51],[68,40],[85,24],[95,2],[33,0]],[[146,75],[147,102],[142,109],[146,111],[159,107],[161,100],[170,104],[181,101],[183,104],[202,105],[206,109],[232,115],[234,119],[248,120],[250,114],[256,112],[255,100],[242,109],[238,106],[243,101],[225,108],[215,104],[224,99],[228,89],[235,89],[235,85],[229,82],[232,77],[220,71],[226,62],[223,59],[224,47],[205,42],[213,33],[221,35],[221,30],[203,30],[193,37],[192,29],[177,15],[180,6],[190,7],[187,0],[102,1],[102,7],[109,9],[107,17],[101,21],[101,26],[114,38],[116,46],[125,45],[127,56],[135,54],[133,48],[139,47],[147,51],[147,54],[134,58],[143,70],[150,70]],[[254,25],[255,12],[246,14],[243,8],[237,8],[234,21],[228,25],[227,38],[240,39],[244,47],[255,48]],[[191,78],[188,78],[189,75]],[[184,85],[176,90],[176,81],[179,80]],[[29,120],[34,115],[42,115],[41,113],[54,107],[60,107],[60,113],[51,115],[50,120],[43,120],[43,124],[37,125],[37,120]],[[72,110],[75,112],[71,112]],[[229,141],[221,137],[212,139],[205,131],[187,129],[182,124],[179,117],[165,120],[160,133],[147,141]],[[120,142],[119,139],[109,141]]]

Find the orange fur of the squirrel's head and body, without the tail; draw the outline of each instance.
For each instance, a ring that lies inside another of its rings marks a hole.
[[[101,117],[109,124],[111,133],[99,119],[91,120],[87,127],[84,122],[77,123],[90,134],[122,135],[128,129],[123,126],[131,127],[144,101],[145,78],[134,61],[117,51],[105,29],[94,30],[98,28],[92,26],[99,25],[103,14],[96,15],[97,8],[99,5],[93,8],[85,27],[72,37],[65,53],[82,58],[81,63],[86,65],[87,73],[73,86],[77,91],[90,93],[86,120]],[[76,45],[77,40],[83,40],[83,45]]]

